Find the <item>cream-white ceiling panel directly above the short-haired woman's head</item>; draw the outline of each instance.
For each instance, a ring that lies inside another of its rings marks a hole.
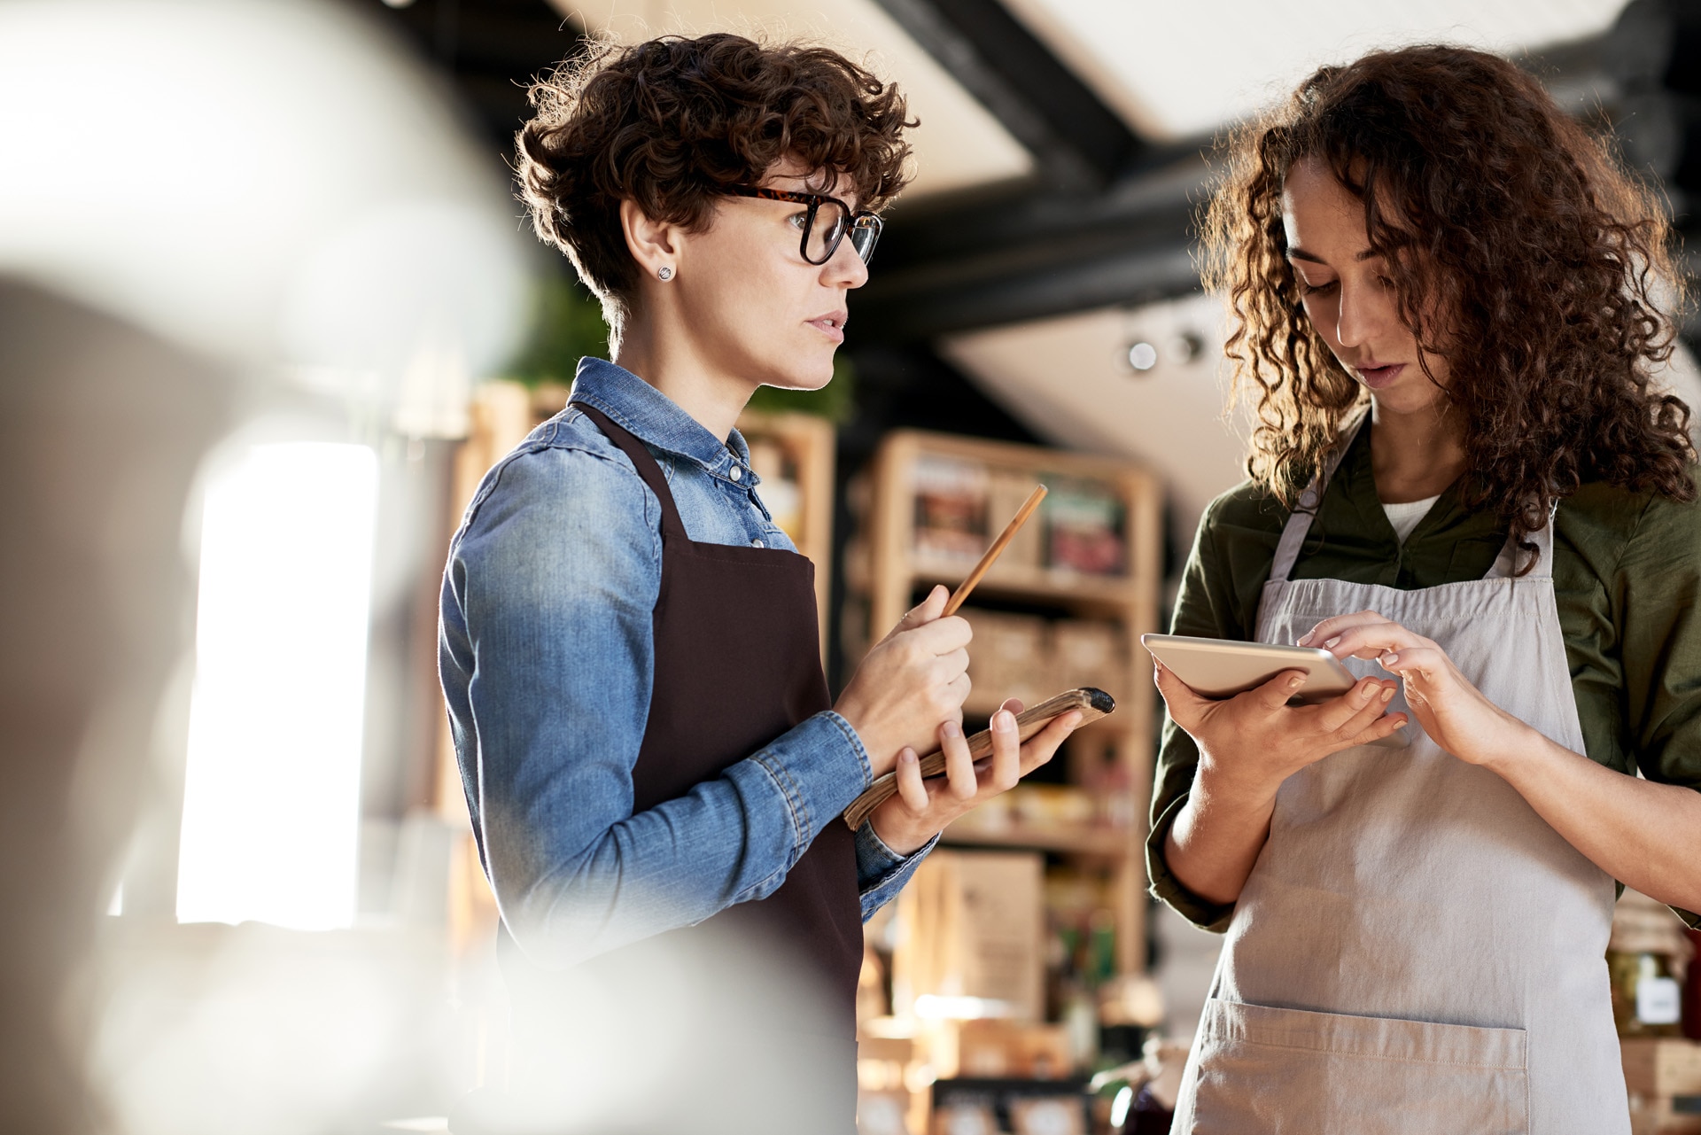
[[[896,82],[920,119],[910,136],[915,180],[905,199],[949,192],[1031,172],[1027,151],[922,51],[873,0],[551,0],[583,27],[623,43],[679,32],[730,31],[772,39],[806,37],[844,51]]]

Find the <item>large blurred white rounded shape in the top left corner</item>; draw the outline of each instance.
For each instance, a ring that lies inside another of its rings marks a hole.
[[[505,170],[347,5],[0,5],[0,271],[165,340],[413,437],[519,344]]]

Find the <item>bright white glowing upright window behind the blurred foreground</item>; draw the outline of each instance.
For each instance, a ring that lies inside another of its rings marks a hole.
[[[253,446],[208,483],[179,922],[354,922],[378,459]]]

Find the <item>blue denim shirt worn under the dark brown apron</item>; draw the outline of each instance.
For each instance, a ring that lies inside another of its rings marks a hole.
[[[757,493],[743,437],[733,431],[723,444],[602,359],[583,359],[566,408],[485,475],[449,546],[439,670],[502,917],[534,961],[555,967],[771,895],[873,783],[856,730],[825,711],[716,779],[633,813],[662,505],[575,403],[597,407],[655,454],[692,541],[796,553]],[[862,825],[864,919],[930,847],[900,856]]]

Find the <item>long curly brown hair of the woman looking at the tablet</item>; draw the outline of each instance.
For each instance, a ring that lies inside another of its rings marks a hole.
[[[1499,509],[1531,548],[1585,480],[1696,497],[1689,407],[1650,381],[1682,301],[1660,202],[1533,77],[1449,46],[1325,66],[1228,141],[1203,267],[1228,298],[1255,482],[1293,507],[1364,402],[1286,259],[1283,182],[1301,160],[1364,202],[1402,320],[1448,361],[1468,507]]]

